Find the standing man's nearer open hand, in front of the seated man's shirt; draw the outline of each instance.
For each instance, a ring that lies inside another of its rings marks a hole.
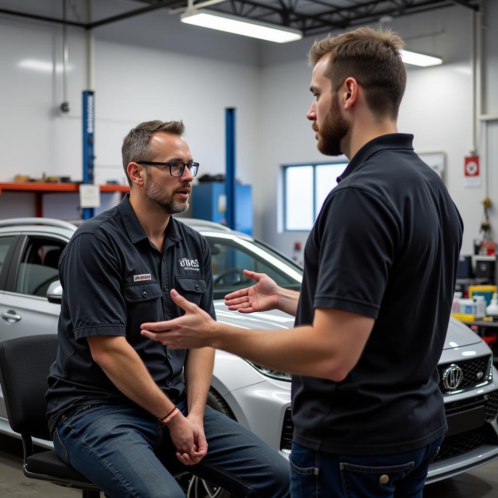
[[[185,311],[173,320],[142,323],[141,334],[158,341],[169,349],[195,349],[213,346],[216,322],[199,306],[187,301],[171,289],[171,299]]]

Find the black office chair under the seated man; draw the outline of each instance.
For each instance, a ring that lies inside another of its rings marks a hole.
[[[0,342],[0,383],[8,421],[12,430],[21,434],[26,477],[80,489],[82,498],[99,498],[99,488],[66,465],[55,450],[33,452],[33,437],[51,441],[45,392],[58,346],[55,334]]]

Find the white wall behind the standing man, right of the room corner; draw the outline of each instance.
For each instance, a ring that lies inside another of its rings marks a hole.
[[[497,2],[492,3],[494,8],[488,11],[487,23],[497,26]],[[462,6],[396,18],[389,23],[389,27],[405,39],[407,49],[440,55],[445,62],[432,68],[407,66],[408,81],[398,129],[414,134],[417,152],[445,152],[445,181],[462,214],[465,224],[463,252],[469,253],[473,239],[479,237],[483,211],[480,202],[485,196],[486,183],[484,177],[481,188],[466,189],[463,181],[464,156],[469,155],[472,143],[470,26],[471,11]],[[488,32],[495,36],[495,40],[489,38],[486,43],[488,62],[496,73],[496,29],[490,28]],[[306,67],[305,54],[312,41],[304,39],[283,47],[272,45],[262,58],[261,121],[266,127],[260,130],[259,164],[266,181],[258,195],[264,206],[261,209],[267,215],[262,218],[262,238],[289,254],[293,252],[293,243],[304,243],[308,233],[282,233],[279,230],[282,200],[274,195],[275,183],[281,181],[279,166],[330,159],[316,150],[311,124],[305,118],[312,102],[308,90],[311,70]],[[494,57],[491,56],[493,51]],[[498,101],[496,97],[495,100]],[[484,160],[484,148],[480,148],[479,153]],[[498,178],[496,180],[498,182]],[[498,224],[498,219],[494,223]]]

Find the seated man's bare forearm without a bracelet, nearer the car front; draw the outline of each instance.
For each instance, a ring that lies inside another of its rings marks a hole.
[[[211,386],[215,351],[212,348],[192,349],[185,360],[188,412],[204,416],[204,407]]]

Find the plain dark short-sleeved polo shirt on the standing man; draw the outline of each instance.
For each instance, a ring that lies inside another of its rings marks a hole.
[[[463,224],[413,135],[364,145],[324,202],[304,252],[297,325],[315,308],[375,319],[341,382],[294,375],[294,441],[313,450],[381,455],[443,436],[438,388]]]

